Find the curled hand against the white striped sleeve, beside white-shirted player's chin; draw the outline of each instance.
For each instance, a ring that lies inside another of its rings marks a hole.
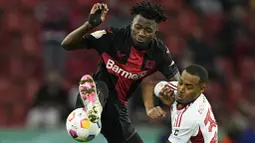
[[[169,86],[165,85],[162,90],[159,92],[159,99],[166,105],[171,105],[175,98],[174,98],[174,90],[171,89]]]

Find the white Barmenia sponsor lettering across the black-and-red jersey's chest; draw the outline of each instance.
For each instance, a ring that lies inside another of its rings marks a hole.
[[[144,72],[142,74],[134,74],[131,73],[129,71],[126,71],[124,69],[122,69],[121,67],[119,67],[113,60],[108,59],[107,63],[106,63],[106,68],[108,70],[112,70],[114,73],[119,74],[121,77],[124,77],[126,79],[131,79],[131,80],[138,80],[143,78],[147,72]]]

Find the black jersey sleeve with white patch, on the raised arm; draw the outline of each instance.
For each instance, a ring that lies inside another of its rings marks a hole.
[[[114,34],[111,29],[112,28],[107,28],[92,32],[84,36],[82,42],[84,42],[88,49],[95,49],[101,53],[107,51],[113,41]]]

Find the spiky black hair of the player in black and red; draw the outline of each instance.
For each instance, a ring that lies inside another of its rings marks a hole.
[[[161,23],[167,20],[167,17],[165,16],[165,10],[162,8],[162,5],[152,4],[151,1],[148,0],[137,2],[131,8],[132,16],[138,14],[149,20],[155,20],[157,23]]]

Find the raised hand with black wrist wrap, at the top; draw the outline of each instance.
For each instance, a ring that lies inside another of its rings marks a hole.
[[[89,23],[96,27],[100,25],[104,20],[107,12],[109,11],[107,4],[96,3],[90,10]]]

